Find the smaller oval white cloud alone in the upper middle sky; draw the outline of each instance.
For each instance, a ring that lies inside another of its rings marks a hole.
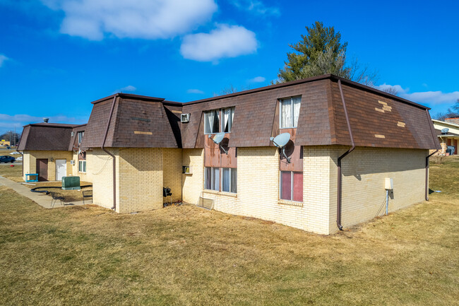
[[[254,32],[239,25],[218,25],[210,33],[186,35],[180,53],[195,61],[217,61],[254,53],[257,47]]]

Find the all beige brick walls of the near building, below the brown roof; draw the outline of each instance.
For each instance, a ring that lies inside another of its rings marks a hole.
[[[213,199],[214,209],[329,234],[336,226],[338,156],[345,146],[304,147],[303,203],[279,200],[279,153],[276,148],[238,148],[237,194],[204,190],[203,149],[120,149],[117,155],[117,211],[162,207],[162,187],[180,189],[181,198],[197,204]],[[427,150],[356,148],[342,160],[342,225],[371,220],[384,213],[384,179],[393,178],[389,210],[424,200]],[[26,158],[25,158],[26,160]],[[193,174],[182,175],[181,166]],[[163,171],[164,170],[164,171]],[[94,203],[112,207],[112,160],[93,151]],[[181,180],[180,180],[181,178]],[[174,197],[174,200],[177,199]]]

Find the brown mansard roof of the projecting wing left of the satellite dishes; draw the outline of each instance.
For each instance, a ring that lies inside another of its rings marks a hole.
[[[121,93],[93,102],[93,111],[81,144],[83,148],[102,146],[113,99],[115,105],[105,147],[179,148],[169,121],[173,117],[169,119],[165,105],[177,107],[181,103]]]

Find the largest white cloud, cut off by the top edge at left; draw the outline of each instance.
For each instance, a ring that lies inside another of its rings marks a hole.
[[[41,0],[64,11],[61,33],[102,40],[106,34],[142,39],[184,34],[210,20],[214,0]]]

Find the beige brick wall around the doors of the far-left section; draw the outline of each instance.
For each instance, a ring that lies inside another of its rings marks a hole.
[[[37,159],[47,158],[48,160],[48,180],[56,180],[56,159],[66,160],[66,175],[72,175],[71,151],[23,151],[24,176],[29,173],[37,173]],[[53,159],[51,161],[51,158]]]

